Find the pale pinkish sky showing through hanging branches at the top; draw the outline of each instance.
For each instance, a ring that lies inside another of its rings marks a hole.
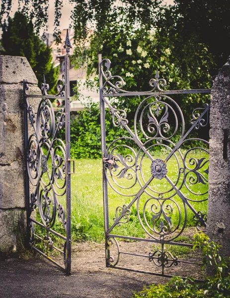
[[[167,4],[173,4],[173,0],[164,0]],[[55,0],[49,0],[49,20],[48,20],[48,33],[53,33],[54,30],[54,6]],[[10,16],[12,17],[17,10],[18,1],[12,0],[12,9]],[[63,8],[62,8],[62,18],[60,20],[60,29],[67,29],[71,23],[71,10],[73,9],[74,4],[71,4],[69,0],[63,0]]]

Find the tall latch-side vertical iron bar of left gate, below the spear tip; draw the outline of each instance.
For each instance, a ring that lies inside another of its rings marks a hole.
[[[66,274],[71,272],[71,157],[70,157],[70,55],[65,55],[65,105],[66,105],[66,207],[67,207],[67,263]]]

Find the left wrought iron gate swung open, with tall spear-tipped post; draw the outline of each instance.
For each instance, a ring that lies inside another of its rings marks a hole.
[[[49,95],[49,84],[42,94],[29,94],[24,80],[24,127],[26,149],[27,229],[31,247],[50,261],[71,272],[71,159],[70,159],[70,40],[67,37],[63,76],[58,93]],[[33,99],[39,98],[37,111]],[[56,115],[54,99],[65,102]],[[36,112],[36,113],[35,113]],[[64,139],[64,140],[63,140]],[[32,212],[33,211],[33,212]],[[64,262],[58,262],[61,252]]]

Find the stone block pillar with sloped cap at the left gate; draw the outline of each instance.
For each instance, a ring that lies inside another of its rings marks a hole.
[[[0,252],[18,249],[26,233],[23,79],[39,94],[25,57],[0,56]]]

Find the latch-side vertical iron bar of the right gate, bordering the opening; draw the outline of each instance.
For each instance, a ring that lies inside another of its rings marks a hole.
[[[98,54],[98,73],[99,73],[99,96],[100,96],[100,124],[101,124],[101,152],[102,158],[105,157],[106,153],[106,142],[105,142],[105,103],[102,99],[102,73],[101,73],[101,54]],[[106,256],[106,267],[108,267],[107,260],[109,259],[109,249],[107,243],[107,234],[109,229],[109,211],[108,211],[108,185],[105,175],[105,168],[102,161],[102,186],[103,186],[103,207],[104,207],[104,232],[105,232],[105,256]]]

